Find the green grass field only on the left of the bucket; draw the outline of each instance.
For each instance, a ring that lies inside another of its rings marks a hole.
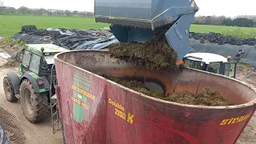
[[[38,29],[66,28],[66,29],[98,29],[110,26],[96,23],[94,18],[53,17],[30,15],[0,15],[0,35],[11,36],[21,31],[24,25],[35,25]]]

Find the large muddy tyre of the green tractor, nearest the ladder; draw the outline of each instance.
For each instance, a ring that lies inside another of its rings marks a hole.
[[[46,114],[48,113],[48,98],[46,94],[36,93],[32,83],[28,79],[25,79],[20,87],[20,101],[23,114],[29,122],[38,123],[46,118]]]

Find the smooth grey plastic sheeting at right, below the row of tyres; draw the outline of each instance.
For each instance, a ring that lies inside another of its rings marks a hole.
[[[199,40],[190,38],[190,43],[193,48],[191,52],[205,52],[219,54],[223,57],[231,56],[234,58],[238,53],[238,50],[244,50],[240,62],[250,64],[251,66],[256,67],[256,46],[233,46],[230,44],[218,45],[218,43],[202,43]]]

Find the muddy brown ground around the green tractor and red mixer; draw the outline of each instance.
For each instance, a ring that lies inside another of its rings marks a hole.
[[[1,44],[0,44],[1,47]],[[20,50],[18,47],[17,50]],[[0,48],[0,52],[10,52],[14,54],[14,50],[10,46],[5,49]],[[7,60],[8,62],[10,59]],[[0,60],[0,62],[4,62]],[[12,62],[11,62],[12,63]],[[8,72],[17,72],[18,67],[14,65],[0,66],[0,122],[5,126],[6,133],[9,139],[13,140],[12,143],[50,143],[61,144],[62,133],[58,131],[57,134],[52,133],[50,123],[50,111],[49,117],[45,121],[32,124],[26,120],[22,114],[22,108],[19,102],[10,103],[7,102],[4,91],[2,88],[2,79]],[[238,69],[238,79],[248,82],[256,87],[256,70],[250,68],[250,66],[241,65]],[[256,143],[256,114],[250,120],[250,123],[243,132],[241,138],[238,140],[238,144],[254,144]]]

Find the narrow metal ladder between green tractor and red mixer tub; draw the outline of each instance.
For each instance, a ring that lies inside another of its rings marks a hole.
[[[51,124],[53,128],[53,133],[55,134],[58,130],[62,130],[60,126],[60,118],[58,118],[58,103],[57,103],[57,96],[56,94],[53,95],[52,93],[52,86],[57,86],[57,81],[53,82],[53,73],[54,73],[54,67],[53,65],[51,67],[51,73],[50,73],[50,113],[51,113]]]

